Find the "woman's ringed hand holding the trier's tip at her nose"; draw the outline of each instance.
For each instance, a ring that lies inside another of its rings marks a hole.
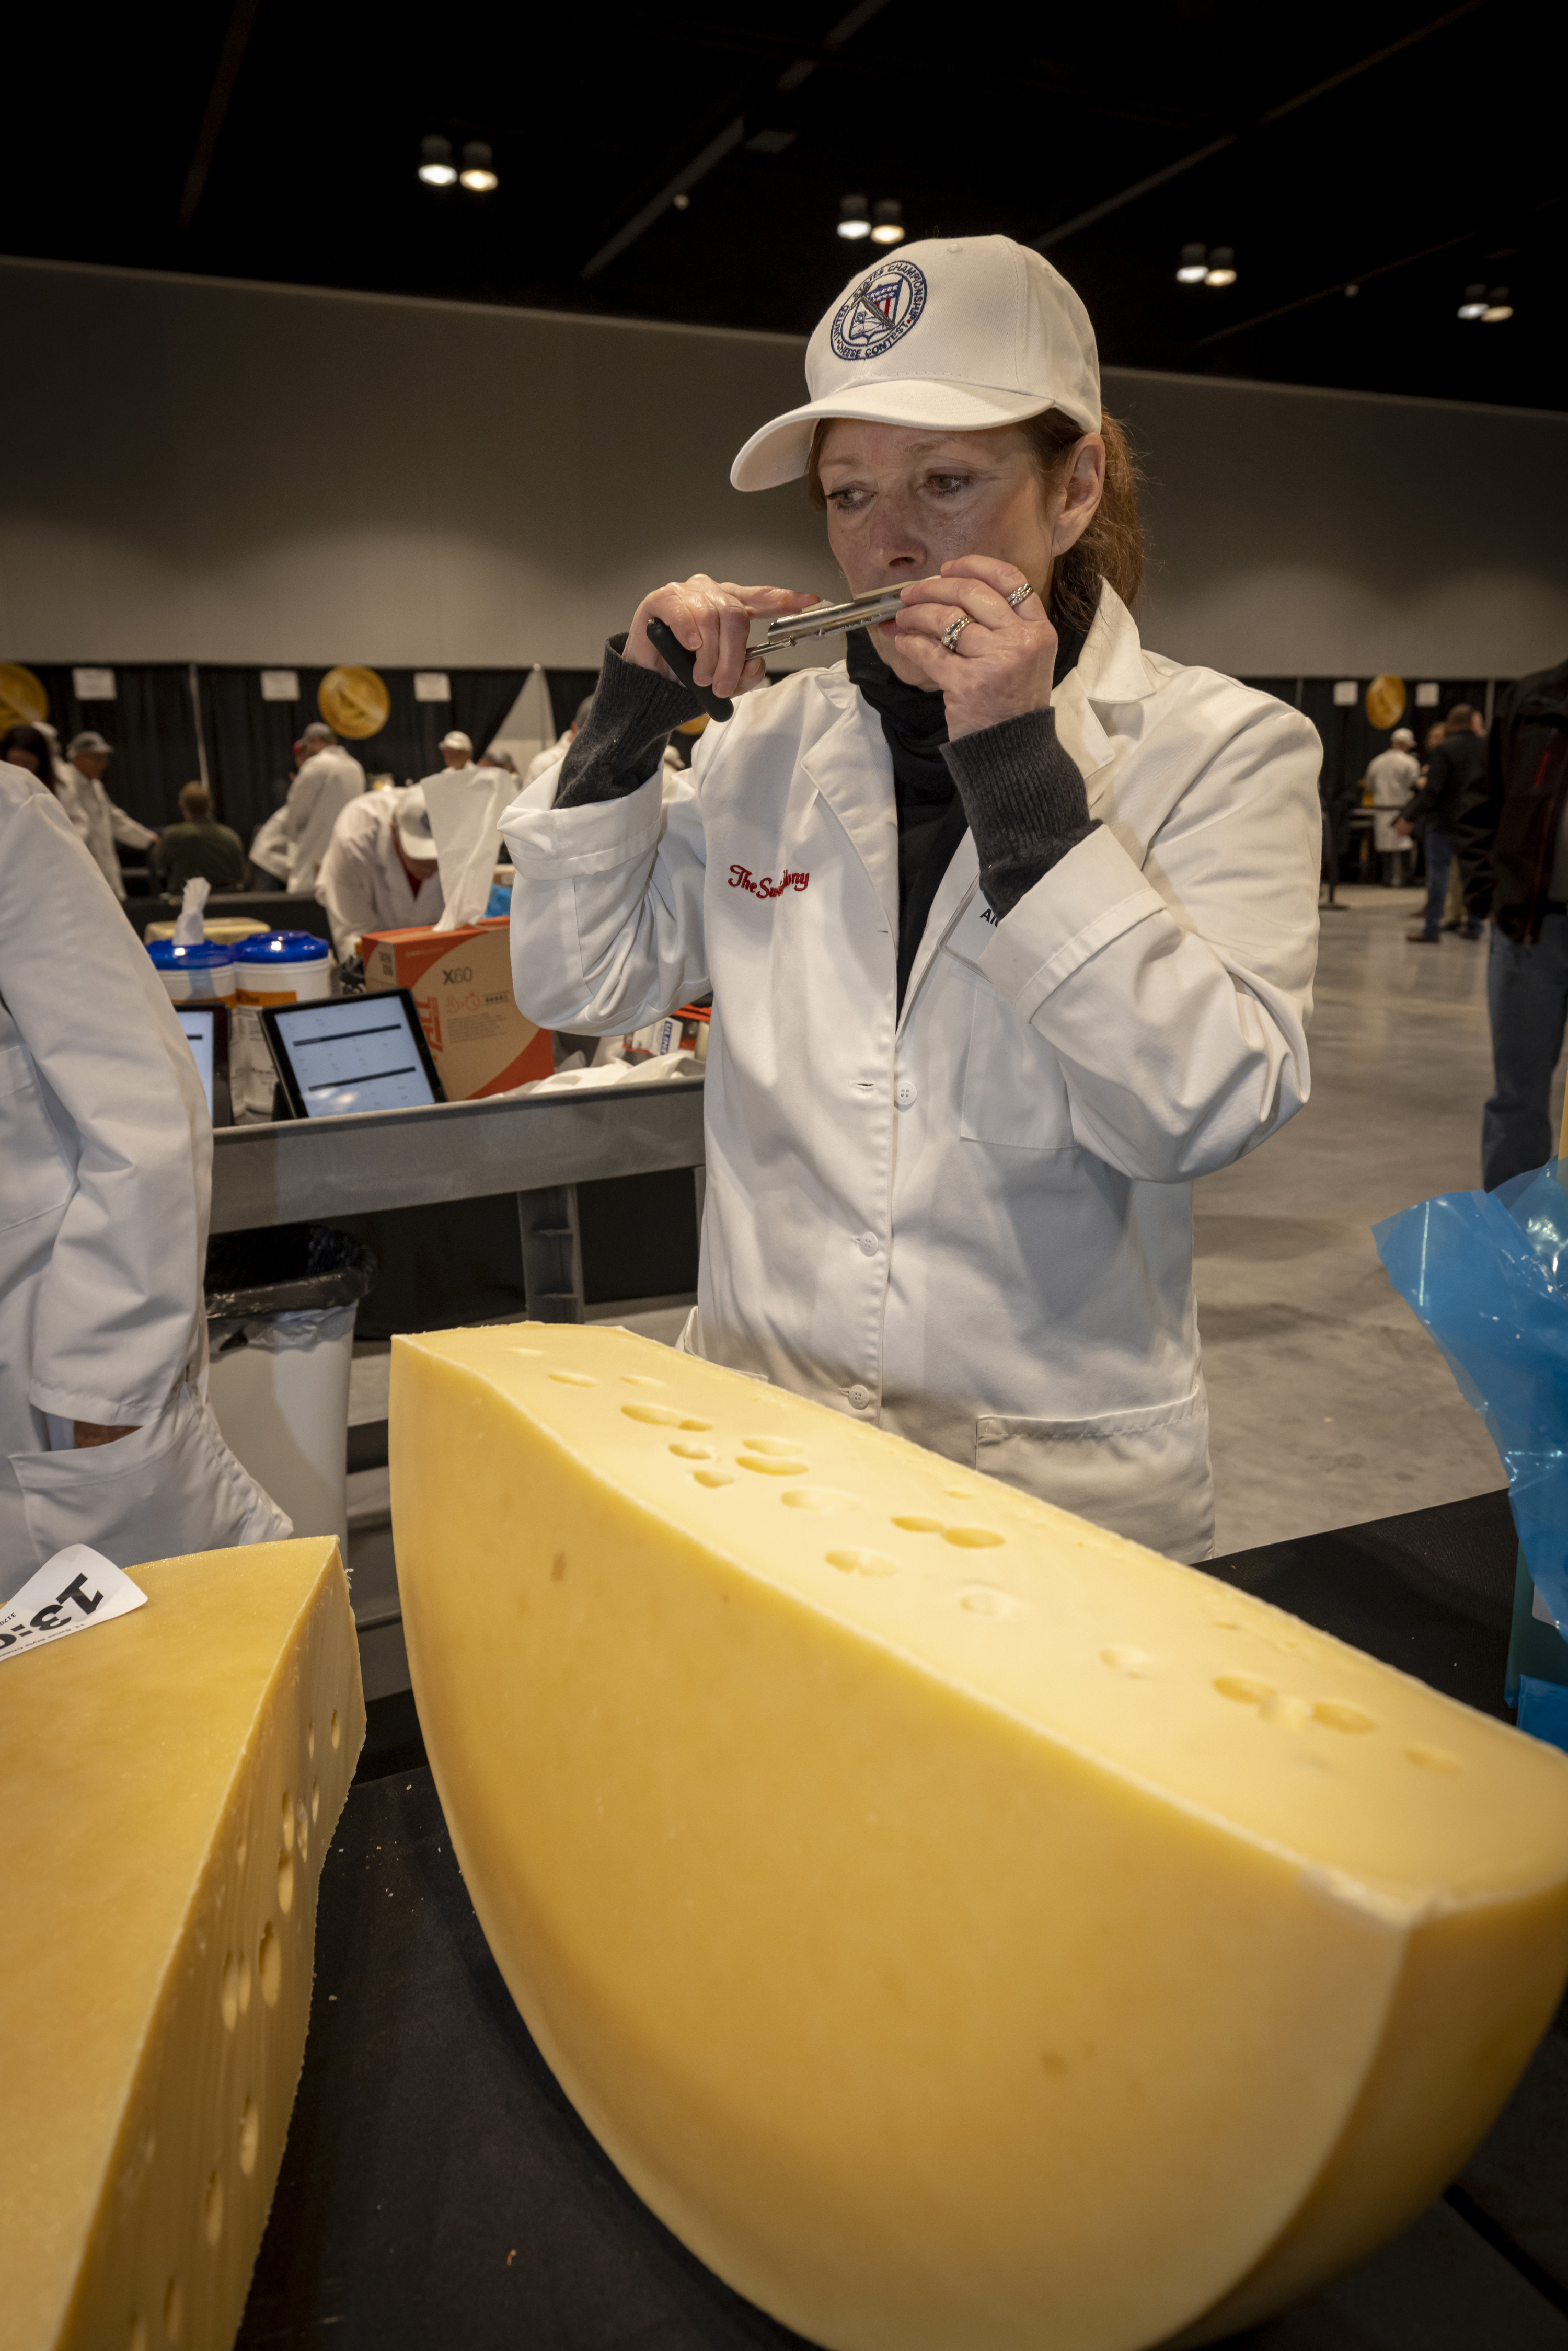
[[[1009,604],[1025,583],[994,555],[959,555],[940,578],[905,588],[898,651],[917,663],[947,703],[947,741],[1051,708],[1056,630],[1039,595]],[[947,651],[943,632],[966,625]]]

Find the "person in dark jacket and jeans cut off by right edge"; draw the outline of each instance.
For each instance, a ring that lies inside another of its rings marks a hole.
[[[1568,1018],[1568,661],[1497,694],[1481,788],[1458,813],[1465,912],[1490,912],[1493,1098],[1481,1180],[1544,1166],[1547,1096]]]

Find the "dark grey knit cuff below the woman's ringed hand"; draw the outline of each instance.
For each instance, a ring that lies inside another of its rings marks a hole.
[[[1056,741],[1056,710],[1025,710],[943,743],[980,860],[980,889],[997,917],[1095,830],[1072,752]]]

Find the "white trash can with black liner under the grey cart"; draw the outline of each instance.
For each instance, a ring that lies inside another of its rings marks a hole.
[[[221,1232],[207,1246],[207,1401],[296,1535],[348,1561],[348,1373],[376,1258],[331,1225]]]

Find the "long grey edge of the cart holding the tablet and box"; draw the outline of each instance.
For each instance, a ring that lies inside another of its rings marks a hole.
[[[221,1126],[212,1232],[703,1166],[703,1079]]]

